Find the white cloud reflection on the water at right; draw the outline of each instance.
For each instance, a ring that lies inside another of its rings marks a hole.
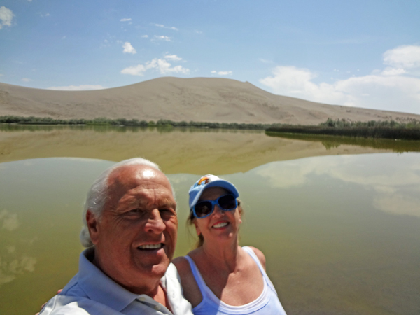
[[[277,188],[302,186],[316,176],[355,183],[369,191],[374,207],[420,217],[420,156],[377,154],[272,162],[254,169]]]

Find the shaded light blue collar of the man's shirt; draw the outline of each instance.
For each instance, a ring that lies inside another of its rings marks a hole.
[[[80,254],[78,283],[91,300],[121,311],[140,296],[126,290],[106,276],[87,258],[94,254],[94,248],[87,248]]]

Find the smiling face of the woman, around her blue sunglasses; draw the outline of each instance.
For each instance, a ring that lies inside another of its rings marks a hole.
[[[228,194],[228,190],[221,187],[210,187],[204,190],[200,196],[202,200],[216,200],[218,197]],[[197,235],[202,234],[204,243],[208,241],[228,241],[235,239],[239,232],[239,225],[242,223],[239,209],[223,211],[218,205],[206,218],[195,218],[194,224]]]

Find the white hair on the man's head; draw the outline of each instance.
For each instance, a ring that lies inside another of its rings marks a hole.
[[[99,177],[92,183],[92,186],[90,186],[90,190],[87,192],[85,205],[83,207],[83,228],[80,232],[80,243],[82,243],[83,246],[93,246],[92,240],[90,239],[89,230],[87,229],[87,210],[90,210],[92,214],[94,214],[94,216],[97,217],[97,219],[101,218],[102,212],[104,211],[105,202],[109,197],[109,176],[114,170],[118,169],[118,167],[123,167],[127,165],[146,165],[148,167],[152,167],[153,169],[157,169],[158,171],[160,171],[160,168],[156,163],[153,163],[144,158],[132,158],[116,163],[115,165],[106,169],[101,175],[99,175]],[[173,188],[172,193],[174,193]]]

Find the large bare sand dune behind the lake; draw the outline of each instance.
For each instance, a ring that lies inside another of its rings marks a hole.
[[[420,115],[283,97],[225,78],[156,78],[94,91],[40,90],[0,83],[0,116],[137,118],[219,123],[318,124],[327,118],[420,120]]]

